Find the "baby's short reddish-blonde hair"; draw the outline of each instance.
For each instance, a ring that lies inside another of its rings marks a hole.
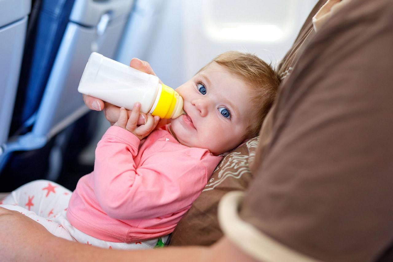
[[[226,67],[228,71],[241,77],[250,86],[250,101],[255,105],[255,114],[250,117],[247,132],[249,138],[258,136],[263,120],[277,94],[280,84],[277,73],[271,64],[267,64],[256,55],[239,51],[228,51],[218,55],[198,73],[212,62]]]

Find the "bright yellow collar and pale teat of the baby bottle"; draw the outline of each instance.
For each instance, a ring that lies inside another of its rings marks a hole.
[[[176,100],[179,94],[169,86],[162,84],[162,91],[158,103],[152,115],[158,115],[160,118],[171,118],[173,109],[176,105]]]

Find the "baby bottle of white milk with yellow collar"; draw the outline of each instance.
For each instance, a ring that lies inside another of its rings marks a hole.
[[[176,118],[183,111],[183,98],[172,88],[149,75],[93,52],[84,68],[78,92],[132,110],[141,103],[141,112],[160,118]]]

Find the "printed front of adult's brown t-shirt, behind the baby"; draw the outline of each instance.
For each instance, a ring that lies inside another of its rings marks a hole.
[[[305,43],[314,34],[312,16],[325,2],[326,0],[320,0],[316,4],[301,28],[293,47],[278,66],[278,73],[284,81],[285,77],[290,75],[301,50],[306,45]],[[269,130],[271,123],[265,122],[264,126]],[[270,136],[269,132],[260,134],[259,140],[262,143]],[[223,235],[217,219],[217,205],[224,194],[234,190],[244,191],[252,181],[253,175],[249,169],[249,162],[253,161],[257,141],[258,138],[250,140],[221,161],[204,191],[174,229],[170,245],[208,246]]]

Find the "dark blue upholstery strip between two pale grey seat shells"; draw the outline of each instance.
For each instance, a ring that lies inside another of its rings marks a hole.
[[[74,0],[33,2],[10,128],[11,135],[26,132],[19,128],[24,127],[24,123],[39,107],[73,2]]]

